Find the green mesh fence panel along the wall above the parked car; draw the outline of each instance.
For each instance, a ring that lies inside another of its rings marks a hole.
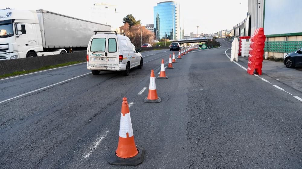
[[[265,42],[265,52],[291,53],[302,48],[302,41]]]

